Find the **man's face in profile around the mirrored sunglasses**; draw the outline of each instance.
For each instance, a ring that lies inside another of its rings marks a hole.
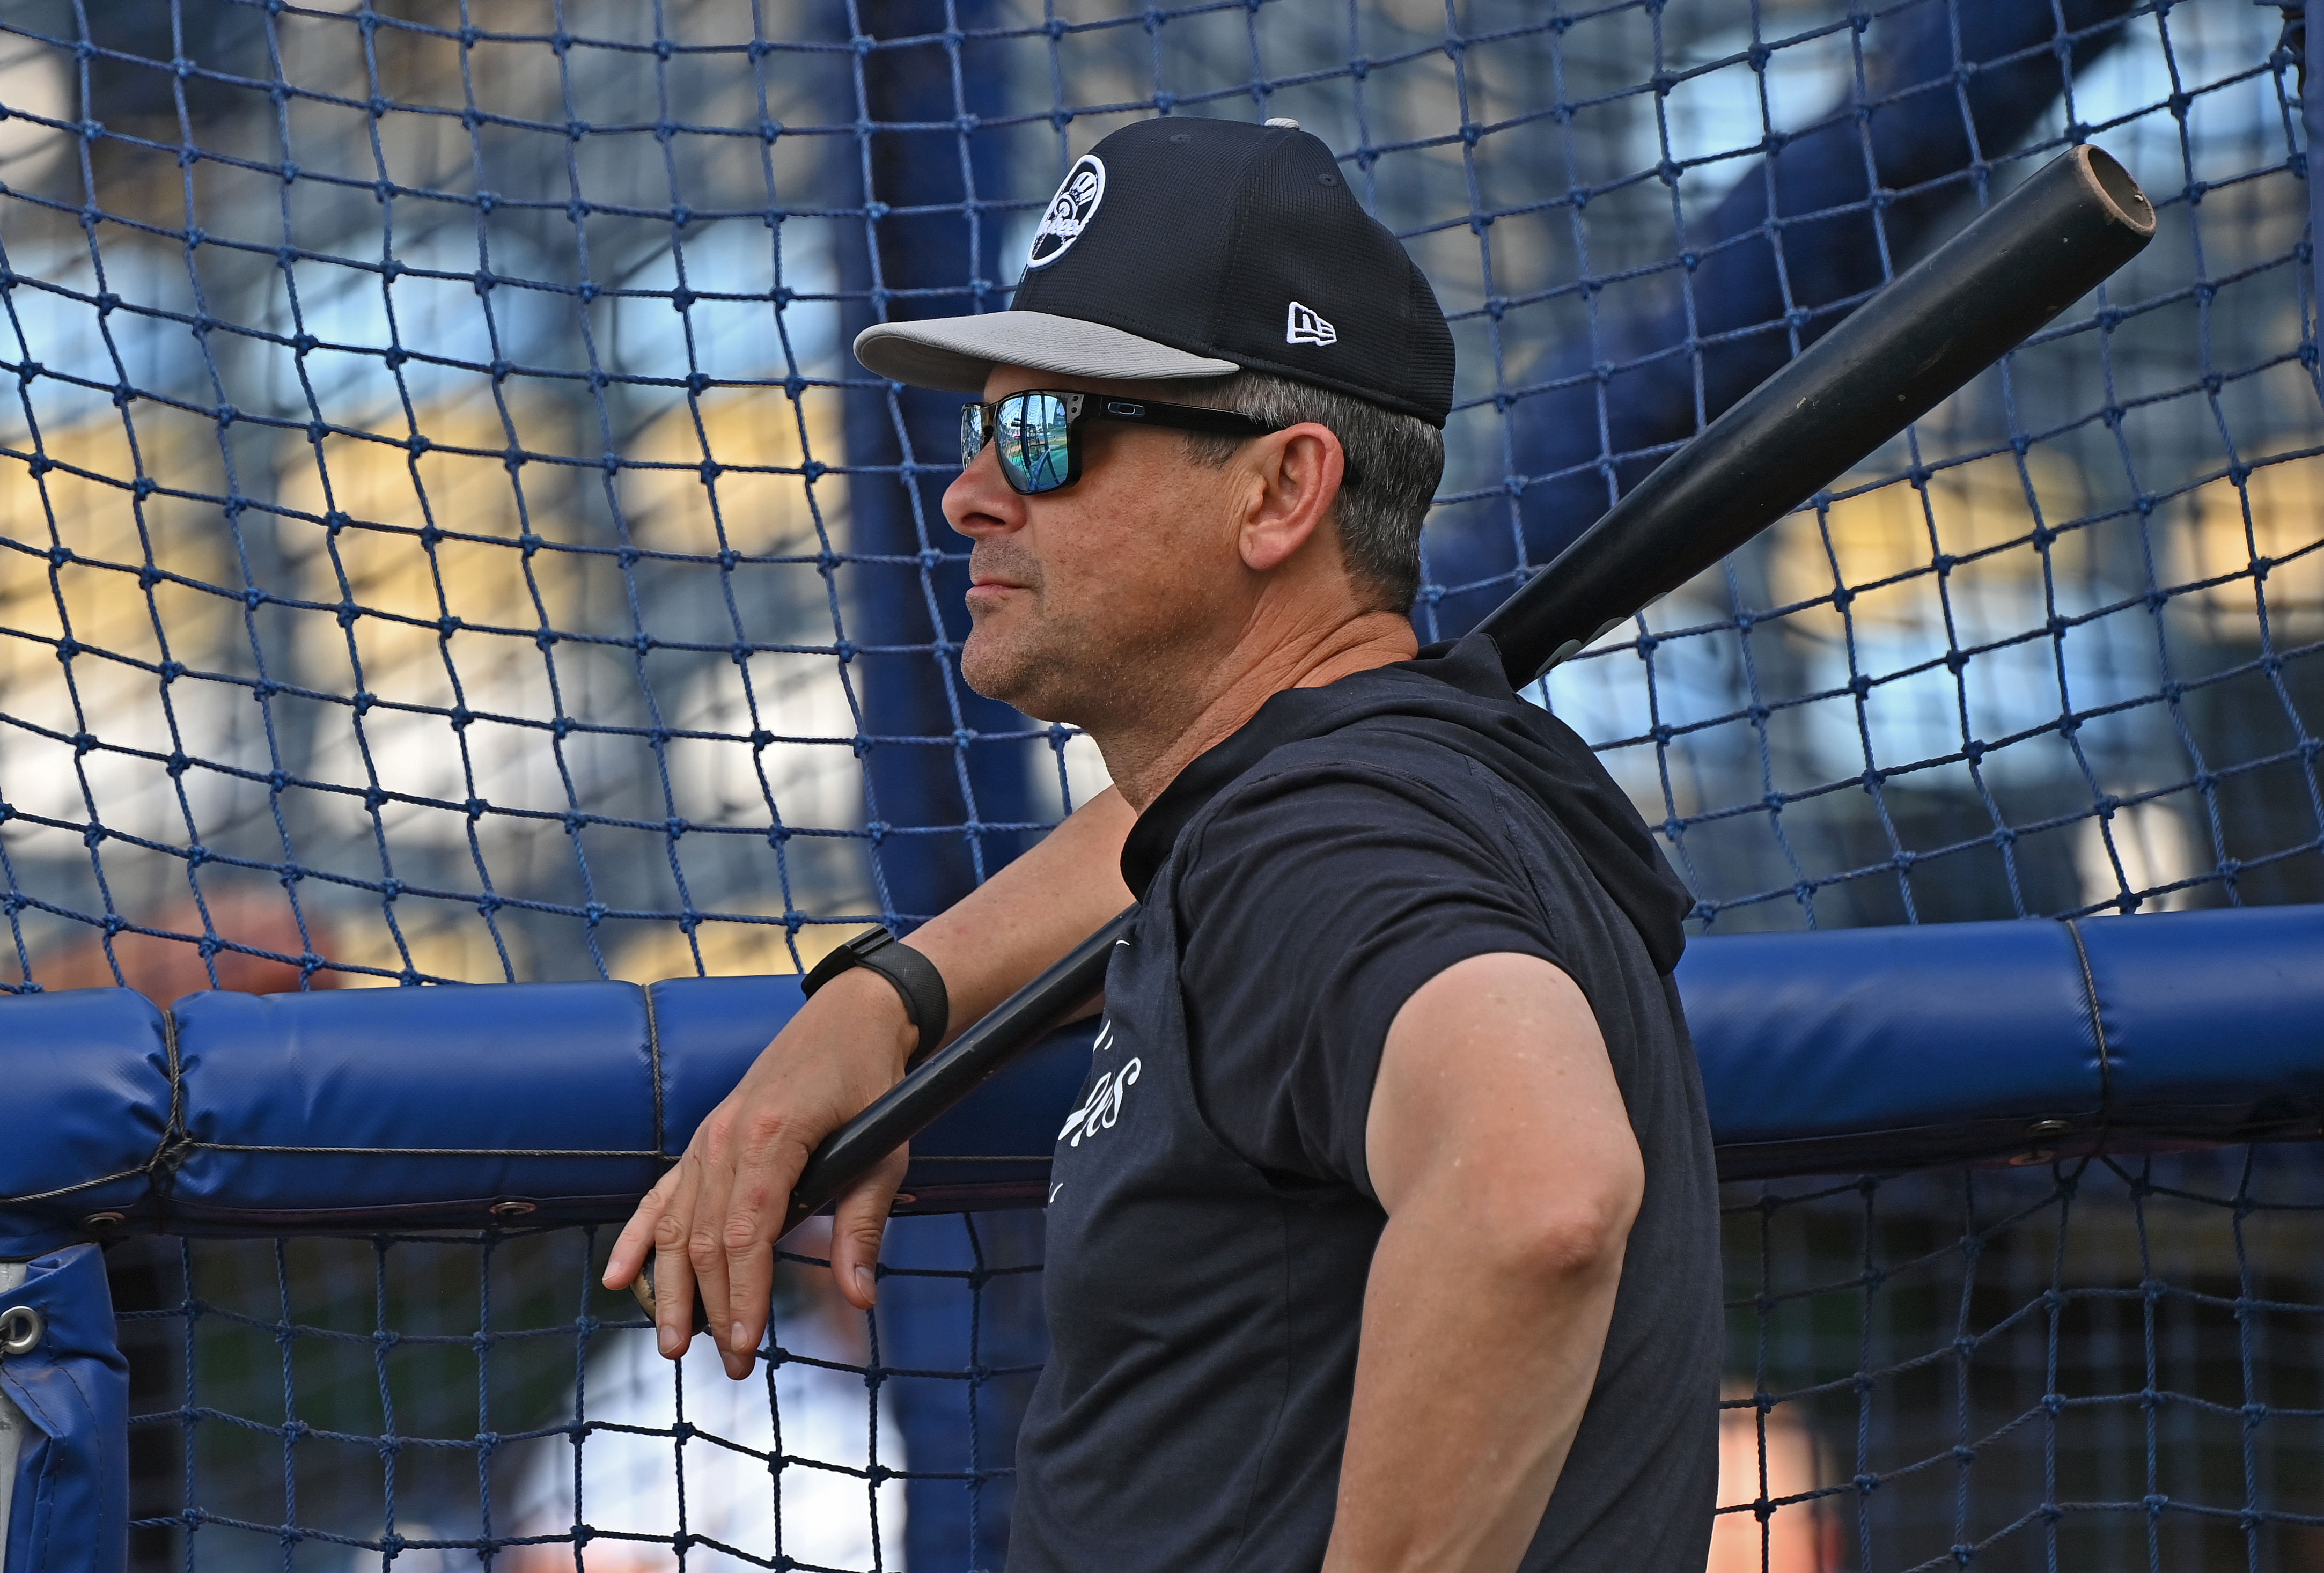
[[[1174,400],[1155,383],[1023,367],[995,367],[985,400],[1030,388]],[[1236,476],[1190,460],[1178,432],[1088,421],[1076,439],[1081,479],[1034,497],[1009,488],[988,444],[944,493],[944,516],[976,541],[960,653],[969,685],[1041,720],[1104,727],[1167,690],[1185,660],[1232,644]]]

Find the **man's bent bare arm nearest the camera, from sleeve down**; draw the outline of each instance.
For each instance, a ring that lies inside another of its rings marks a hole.
[[[1508,1573],[1597,1382],[1645,1185],[1590,1004],[1478,955],[1387,1029],[1364,1127],[1387,1229],[1364,1290],[1327,1573]]]

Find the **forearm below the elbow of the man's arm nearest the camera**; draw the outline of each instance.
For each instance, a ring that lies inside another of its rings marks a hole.
[[[1513,1250],[1452,1185],[1390,1218],[1327,1573],[1518,1566],[1597,1382],[1624,1231]]]

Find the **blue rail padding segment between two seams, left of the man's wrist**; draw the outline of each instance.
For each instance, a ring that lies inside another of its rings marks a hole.
[[[174,1018],[186,1145],[156,1201],[177,1229],[602,1218],[662,1171],[625,983],[205,992]]]

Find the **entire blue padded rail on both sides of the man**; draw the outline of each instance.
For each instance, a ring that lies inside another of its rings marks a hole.
[[[1678,969],[1727,1178],[2315,1136],[2324,906],[1706,939]],[[797,978],[0,999],[0,1257],[105,1227],[618,1220]],[[918,1211],[1034,1204],[1088,1029],[913,1143]],[[116,1215],[119,1222],[105,1218]]]

